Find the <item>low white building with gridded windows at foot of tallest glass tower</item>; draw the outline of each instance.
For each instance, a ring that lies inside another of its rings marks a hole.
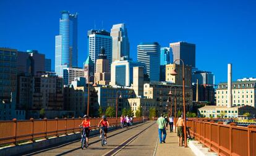
[[[79,77],[83,77],[83,68],[63,68],[64,84],[69,85]]]

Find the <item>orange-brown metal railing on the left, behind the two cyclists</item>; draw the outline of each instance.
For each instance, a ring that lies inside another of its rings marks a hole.
[[[96,129],[101,118],[90,118],[93,129]],[[143,118],[134,118],[134,122]],[[9,120],[0,121],[0,146],[17,144],[22,141],[35,141],[80,132],[79,125],[83,118],[55,118],[43,120]],[[116,125],[116,118],[108,118],[109,126]],[[117,125],[120,125],[119,118]]]

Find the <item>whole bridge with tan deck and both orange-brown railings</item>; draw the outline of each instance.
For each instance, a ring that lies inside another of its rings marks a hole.
[[[14,150],[19,155],[197,155],[189,147],[178,146],[176,133],[168,131],[166,144],[159,144],[155,121],[143,123],[142,118],[135,118],[130,129],[119,128],[119,121],[109,118],[108,144],[101,147],[96,128],[99,120],[91,120],[94,129],[90,146],[84,150],[76,126],[82,118],[1,121],[0,155],[15,154]],[[187,125],[192,138],[216,155],[256,155],[256,126],[223,125],[196,118],[189,119]],[[7,147],[2,148],[4,145]]]

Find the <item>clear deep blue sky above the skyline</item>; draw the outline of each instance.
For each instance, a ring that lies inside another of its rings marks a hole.
[[[226,81],[227,64],[233,80],[256,77],[256,1],[0,1],[0,47],[37,49],[52,59],[61,10],[79,13],[79,66],[87,57],[87,30],[126,23],[130,54],[137,44],[161,46],[187,41],[196,44],[196,66]],[[103,27],[102,27],[103,21]]]

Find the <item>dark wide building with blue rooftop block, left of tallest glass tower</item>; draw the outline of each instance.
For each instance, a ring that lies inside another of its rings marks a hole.
[[[40,54],[36,50],[27,52],[18,51],[17,55],[17,74],[28,73],[36,75],[37,72],[45,72],[45,54]]]

